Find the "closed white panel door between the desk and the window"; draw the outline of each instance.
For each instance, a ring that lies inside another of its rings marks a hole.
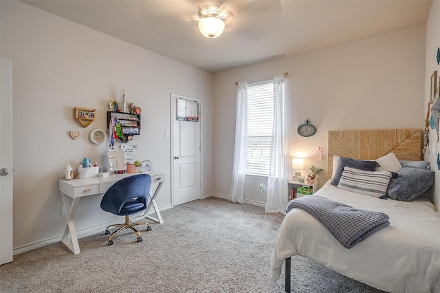
[[[200,102],[171,95],[173,107],[173,205],[201,198]]]

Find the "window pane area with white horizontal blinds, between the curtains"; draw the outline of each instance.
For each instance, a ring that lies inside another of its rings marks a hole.
[[[273,174],[270,164],[274,128],[274,82],[271,80],[248,84],[248,142],[246,174]],[[273,162],[273,160],[272,160]]]

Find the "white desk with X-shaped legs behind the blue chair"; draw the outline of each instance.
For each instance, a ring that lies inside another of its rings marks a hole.
[[[158,183],[153,196],[150,194],[150,201],[148,206],[141,217],[137,219],[147,218],[162,224],[164,221],[160,216],[159,208],[157,207],[155,198],[157,193],[159,193],[162,184],[165,181],[165,174],[160,172],[144,172],[151,175],[151,184]],[[76,179],[76,180],[59,180],[59,190],[61,191],[61,196],[63,197],[63,205],[66,211],[67,224],[63,234],[61,242],[67,246],[74,254],[80,253],[80,247],[78,245],[78,236],[76,235],[76,229],[74,224],[74,217],[76,213],[76,208],[80,202],[81,197],[89,195],[97,195],[100,193],[105,193],[113,183],[121,180],[122,178],[129,177],[136,174],[144,173],[126,173],[118,175],[109,175],[109,177],[94,177],[87,179]],[[148,211],[151,206],[153,206],[157,218],[148,216]],[[70,240],[69,240],[70,234]]]

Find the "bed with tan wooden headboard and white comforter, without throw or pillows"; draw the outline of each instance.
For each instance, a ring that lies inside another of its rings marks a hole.
[[[338,155],[375,160],[393,153],[401,164],[408,161],[416,164],[421,161],[421,131],[329,131],[328,152],[327,177],[332,180],[336,176],[333,168],[338,166],[335,162]],[[402,170],[416,173],[415,169]],[[381,199],[338,188],[331,180],[315,195],[385,213],[390,224],[352,248],[345,248],[314,216],[292,208],[276,233],[270,263],[271,279],[276,281],[285,262],[286,292],[290,292],[290,257],[296,254],[386,292],[440,292],[440,216],[429,199],[417,197],[410,202]]]

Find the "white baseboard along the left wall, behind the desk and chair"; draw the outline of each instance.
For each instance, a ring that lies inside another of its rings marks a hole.
[[[159,208],[159,211],[168,210],[168,208],[172,208],[172,206],[171,205],[163,206],[162,208]],[[155,213],[154,210],[150,210],[148,215],[151,215],[151,216],[155,217],[156,213]],[[142,219],[142,218],[143,217],[133,217],[133,221],[137,221],[137,220]],[[78,239],[81,239],[83,237],[94,235],[94,234],[97,234],[99,232],[103,233],[103,231],[105,230],[105,228],[107,228],[107,226],[109,226],[111,224],[120,224],[120,222],[121,222],[121,219],[115,219],[115,220],[112,220],[112,221],[107,221],[107,222],[101,223],[101,224],[96,225],[96,226],[91,226],[91,227],[87,227],[87,228],[78,230],[78,231],[76,231],[76,235],[78,236]],[[36,248],[41,248],[43,246],[47,246],[47,245],[50,245],[52,243],[60,242],[62,238],[63,238],[63,235],[58,236],[58,237],[47,238],[47,239],[44,239],[44,240],[41,240],[41,241],[37,241],[37,242],[34,242],[34,243],[30,243],[30,244],[26,244],[24,246],[20,246],[20,247],[14,248],[14,252],[13,253],[14,253],[14,255],[16,255],[16,254],[27,252],[29,250],[33,250],[33,249],[36,249]]]

